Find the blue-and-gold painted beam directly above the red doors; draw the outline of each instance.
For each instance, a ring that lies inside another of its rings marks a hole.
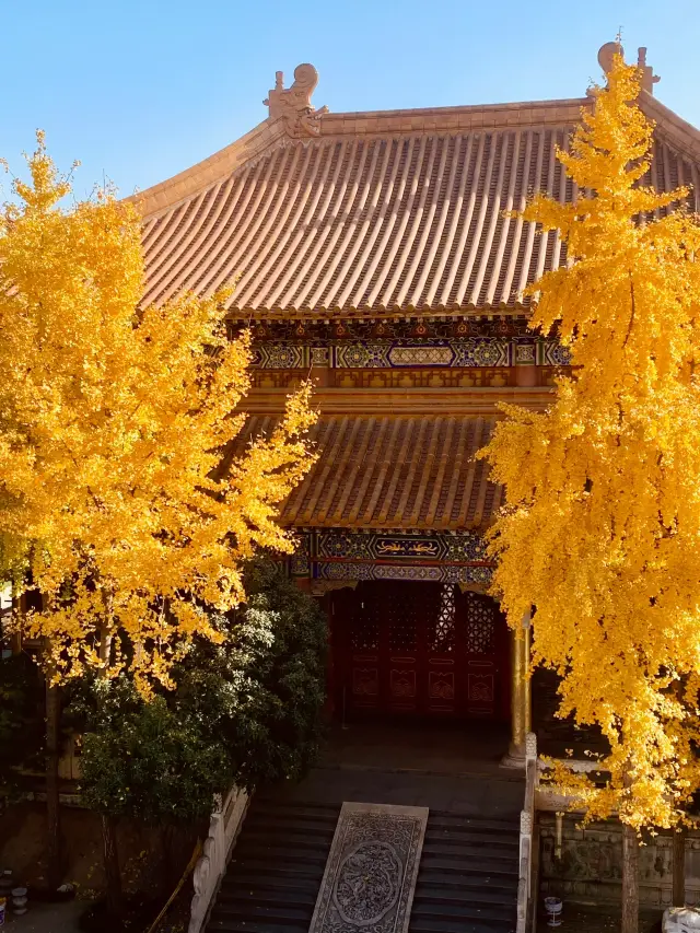
[[[489,583],[492,565],[476,532],[314,528],[298,533],[293,576]]]

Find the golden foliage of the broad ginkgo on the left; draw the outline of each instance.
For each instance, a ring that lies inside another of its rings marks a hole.
[[[25,625],[57,676],[166,681],[195,632],[219,638],[205,607],[242,600],[242,563],[293,549],[277,518],[313,463],[310,387],[223,475],[248,335],[226,339],[221,295],[139,308],[133,206],[102,191],[62,209],[40,133],[27,162],[0,215],[0,570],[43,594]]]

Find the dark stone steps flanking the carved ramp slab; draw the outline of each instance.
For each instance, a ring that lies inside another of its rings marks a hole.
[[[207,930],[307,933],[340,806],[254,800]],[[512,933],[516,820],[430,812],[409,933]]]

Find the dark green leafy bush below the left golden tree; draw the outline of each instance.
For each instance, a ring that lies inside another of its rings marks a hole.
[[[247,574],[248,603],[214,617],[221,645],[197,640],[176,687],[144,702],[126,677],[83,685],[82,792],[109,816],[152,825],[207,816],[232,784],[298,779],[313,763],[325,699],[326,619],[271,562]]]

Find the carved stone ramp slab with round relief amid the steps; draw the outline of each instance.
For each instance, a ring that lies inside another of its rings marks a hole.
[[[308,933],[407,933],[428,807],[343,803]]]

